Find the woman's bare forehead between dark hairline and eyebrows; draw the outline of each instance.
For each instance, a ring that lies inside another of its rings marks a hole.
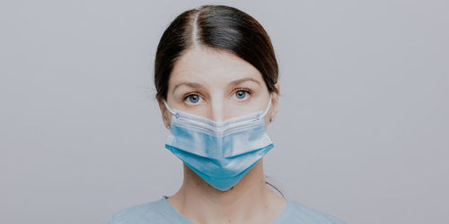
[[[195,47],[187,50],[175,63],[169,86],[185,81],[216,86],[242,78],[263,83],[259,70],[239,56],[225,50]]]

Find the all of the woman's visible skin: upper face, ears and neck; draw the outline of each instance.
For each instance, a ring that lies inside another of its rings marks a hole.
[[[266,127],[277,116],[278,83],[276,88],[265,116]],[[259,70],[242,58],[224,50],[193,47],[174,65],[166,100],[170,108],[224,121],[265,110],[269,90]],[[163,123],[170,129],[172,114],[163,99],[158,103]],[[286,200],[265,184],[263,159],[225,192],[208,185],[185,164],[183,169],[180,190],[167,201],[194,223],[269,223],[286,208]]]

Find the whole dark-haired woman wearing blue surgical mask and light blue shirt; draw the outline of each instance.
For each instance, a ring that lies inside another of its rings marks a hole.
[[[264,181],[277,73],[269,36],[250,15],[224,5],[181,13],[160,40],[154,84],[170,130],[165,148],[183,161],[183,183],[109,223],[343,223]]]

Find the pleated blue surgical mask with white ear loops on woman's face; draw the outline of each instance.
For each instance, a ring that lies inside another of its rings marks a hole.
[[[172,113],[165,148],[220,191],[236,185],[273,148],[263,119],[271,94],[265,111],[223,122],[173,110],[163,102]]]

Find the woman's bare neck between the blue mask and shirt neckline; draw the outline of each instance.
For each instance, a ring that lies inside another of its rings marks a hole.
[[[262,159],[225,192],[208,185],[184,165],[184,182],[168,202],[195,223],[267,223],[286,206],[286,201],[265,184]]]

